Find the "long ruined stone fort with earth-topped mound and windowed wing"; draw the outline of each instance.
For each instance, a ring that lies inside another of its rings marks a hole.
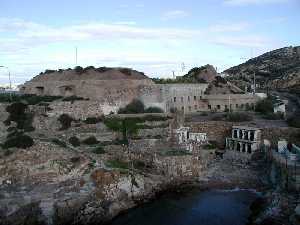
[[[97,102],[103,112],[117,111],[135,98],[142,100],[146,107],[184,113],[247,110],[259,99],[218,79],[210,83],[155,84],[141,72],[104,67],[46,71],[26,82],[20,90],[25,94],[83,97]]]

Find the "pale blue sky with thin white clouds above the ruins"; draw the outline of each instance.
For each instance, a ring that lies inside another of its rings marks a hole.
[[[129,67],[172,77],[218,72],[300,45],[300,0],[0,0],[0,84],[46,69]],[[77,48],[77,64],[75,52]]]

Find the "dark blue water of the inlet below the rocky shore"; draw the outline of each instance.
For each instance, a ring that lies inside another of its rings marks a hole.
[[[129,210],[111,225],[245,225],[256,197],[249,190],[169,194]]]

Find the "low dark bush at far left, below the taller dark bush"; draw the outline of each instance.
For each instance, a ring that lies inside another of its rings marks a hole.
[[[3,149],[8,148],[29,148],[34,144],[33,139],[30,136],[27,136],[22,133],[16,133],[14,135],[11,135],[3,144]]]

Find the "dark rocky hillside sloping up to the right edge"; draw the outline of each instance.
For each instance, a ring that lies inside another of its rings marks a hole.
[[[300,93],[300,46],[267,52],[224,71],[242,89],[256,81],[262,89]]]

